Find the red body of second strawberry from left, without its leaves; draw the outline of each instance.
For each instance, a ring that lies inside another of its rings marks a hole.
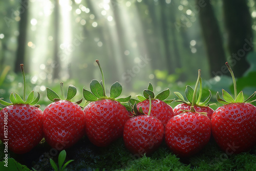
[[[59,100],[46,106],[43,132],[46,142],[57,150],[74,145],[85,133],[86,116],[80,106]]]

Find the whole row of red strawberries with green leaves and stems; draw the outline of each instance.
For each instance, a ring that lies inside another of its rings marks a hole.
[[[24,95],[21,98],[11,93],[10,101],[0,98],[6,105],[0,109],[0,140],[4,135],[4,116],[8,114],[8,147],[17,154],[31,151],[41,140],[57,150],[62,150],[81,139],[83,136],[98,147],[106,147],[118,138],[123,138],[124,145],[133,154],[148,155],[165,142],[166,146],[179,157],[192,156],[209,142],[213,136],[220,148],[227,154],[246,152],[256,144],[256,107],[248,102],[256,92],[244,100],[243,92],[237,95],[236,80],[233,78],[234,98],[222,90],[223,99],[217,92],[217,100],[224,105],[217,110],[207,104],[211,92],[204,102],[201,101],[202,79],[198,70],[195,89],[186,86],[185,98],[179,92],[173,109],[167,100],[170,90],[166,89],[155,95],[151,83],[142,95],[118,98],[122,92],[119,82],[112,84],[110,96],[106,95],[104,75],[99,60],[102,80],[92,80],[90,91],[83,88],[83,98],[77,102],[72,99],[77,89],[70,84],[67,96],[60,83],[61,97],[47,88],[47,97],[51,101],[44,111],[34,98],[32,91],[26,98],[26,78],[23,65],[20,65],[24,78]],[[197,89],[199,87],[199,95]],[[84,105],[80,103],[86,100]],[[255,100],[254,100],[255,101]]]

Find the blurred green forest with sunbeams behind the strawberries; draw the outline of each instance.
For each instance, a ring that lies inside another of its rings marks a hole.
[[[240,0],[10,0],[0,1],[0,97],[21,94],[24,63],[28,90],[59,82],[89,89],[119,81],[123,96],[155,91],[184,93],[202,70],[205,96],[232,90],[228,61],[238,91],[256,90],[256,1]],[[230,92],[231,93],[231,92]],[[174,104],[172,104],[174,105]]]

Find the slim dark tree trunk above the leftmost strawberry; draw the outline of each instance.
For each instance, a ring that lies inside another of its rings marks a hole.
[[[25,50],[27,46],[28,3],[28,0],[22,0],[20,2],[19,35],[14,69],[15,73],[20,73],[19,65],[24,63],[25,60]]]

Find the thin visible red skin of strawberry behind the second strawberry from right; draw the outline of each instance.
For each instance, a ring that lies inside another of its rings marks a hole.
[[[214,110],[211,109],[210,107],[207,107],[207,106],[196,106],[194,105],[194,109],[196,112],[206,112],[207,113],[207,116],[211,119],[211,115],[212,113],[214,113]],[[179,115],[181,114],[183,111],[181,110],[187,110],[189,111],[190,110],[190,105],[188,104],[185,104],[185,103],[180,103],[178,105],[175,106],[174,108],[174,115]]]

